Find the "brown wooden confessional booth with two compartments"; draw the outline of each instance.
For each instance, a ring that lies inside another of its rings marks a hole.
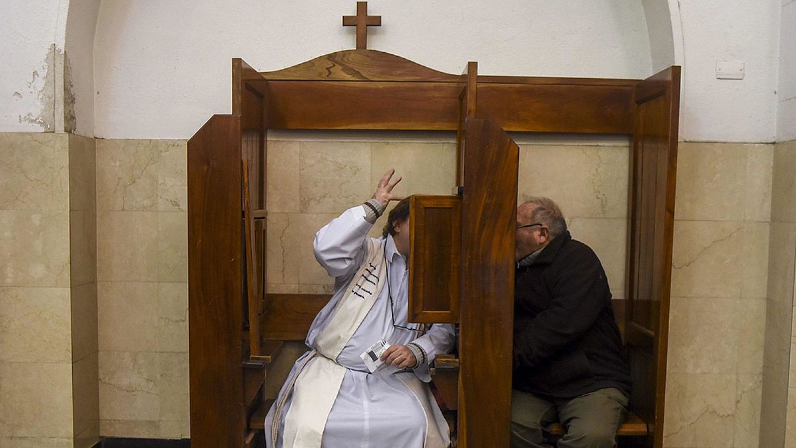
[[[474,62],[453,75],[369,49],[275,72],[233,59],[232,114],[188,143],[192,446],[261,446],[267,366],[329,298],[267,291],[269,129],[458,131],[458,191],[412,201],[410,262],[423,269],[412,269],[409,320],[458,323],[458,354],[437,361],[434,382],[467,448],[509,443],[518,149],[505,131],[632,135],[616,307],[634,417],[620,435],[662,446],[679,88],[679,67],[616,80],[479,76]]]

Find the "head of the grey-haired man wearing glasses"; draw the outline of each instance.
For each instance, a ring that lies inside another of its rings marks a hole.
[[[517,207],[517,260],[543,249],[556,236],[567,231],[561,208],[547,197],[531,197]]]

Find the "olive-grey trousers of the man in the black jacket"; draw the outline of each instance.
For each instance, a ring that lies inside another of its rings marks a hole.
[[[566,431],[558,448],[613,448],[626,414],[627,397],[615,388],[554,401],[512,390],[511,448],[552,447],[549,430],[558,422]]]

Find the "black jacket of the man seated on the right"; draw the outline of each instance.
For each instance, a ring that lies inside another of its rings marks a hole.
[[[517,267],[514,285],[513,388],[547,399],[630,394],[611,290],[590,247],[565,232]]]

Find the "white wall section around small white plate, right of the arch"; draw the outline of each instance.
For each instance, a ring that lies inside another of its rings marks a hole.
[[[782,0],[681,0],[685,67],[681,138],[773,142]],[[717,80],[716,60],[743,60],[743,80]]]

